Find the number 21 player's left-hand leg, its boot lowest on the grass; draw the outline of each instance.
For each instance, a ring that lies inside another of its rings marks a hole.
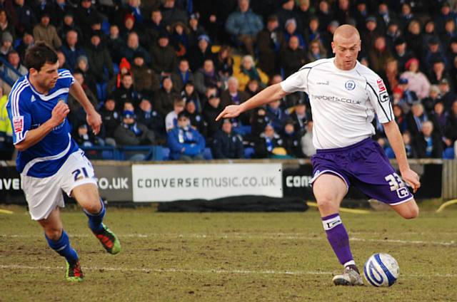
[[[52,210],[46,219],[38,220],[44,229],[44,235],[49,247],[66,259],[66,279],[68,281],[82,281],[84,274],[81,271],[79,257],[71,247],[69,236],[66,234],[60,219],[59,207]]]

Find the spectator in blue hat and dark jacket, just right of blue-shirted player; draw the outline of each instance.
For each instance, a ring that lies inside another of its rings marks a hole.
[[[114,131],[114,140],[116,140],[116,145],[138,146],[153,145],[156,139],[154,132],[136,122],[136,115],[133,111],[124,110],[122,122]]]

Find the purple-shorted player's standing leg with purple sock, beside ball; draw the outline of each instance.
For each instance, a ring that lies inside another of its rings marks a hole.
[[[338,261],[345,267],[342,275],[333,277],[333,283],[361,285],[363,281],[353,260],[348,232],[338,213],[347,189],[346,181],[333,174],[320,175],[313,182],[313,193],[321,213],[323,229]]]

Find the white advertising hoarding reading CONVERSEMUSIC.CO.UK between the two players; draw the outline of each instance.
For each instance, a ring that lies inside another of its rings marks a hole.
[[[133,165],[134,202],[283,197],[281,167],[280,163]]]

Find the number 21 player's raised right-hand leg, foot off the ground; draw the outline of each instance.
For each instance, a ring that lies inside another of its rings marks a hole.
[[[118,254],[121,251],[121,244],[116,234],[103,223],[106,209],[101,201],[96,184],[80,184],[71,190],[71,196],[83,208],[89,219],[89,228],[99,239],[104,249],[110,254]]]

